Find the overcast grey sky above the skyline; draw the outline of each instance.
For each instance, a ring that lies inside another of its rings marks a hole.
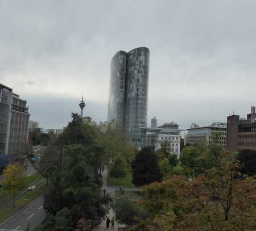
[[[0,82],[31,120],[107,119],[110,60],[150,49],[148,125],[207,125],[256,104],[256,1],[0,0]]]

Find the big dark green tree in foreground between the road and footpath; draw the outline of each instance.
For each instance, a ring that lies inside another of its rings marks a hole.
[[[73,228],[77,226],[79,219],[92,221],[94,228],[108,212],[106,205],[110,198],[101,195],[97,161],[93,147],[69,145],[64,148],[60,178],[59,173],[53,171],[56,182],[46,193],[44,206],[55,217],[65,208],[75,211]]]

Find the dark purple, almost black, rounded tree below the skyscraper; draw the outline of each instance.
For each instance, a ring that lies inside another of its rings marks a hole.
[[[149,147],[139,151],[131,163],[133,170],[133,184],[143,186],[162,180],[162,173],[158,167],[158,158]]]

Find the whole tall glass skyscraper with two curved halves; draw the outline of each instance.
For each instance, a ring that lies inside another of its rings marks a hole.
[[[137,148],[146,146],[148,70],[146,47],[117,52],[111,61],[108,121],[115,119]]]

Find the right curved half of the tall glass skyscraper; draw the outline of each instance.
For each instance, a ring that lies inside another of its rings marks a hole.
[[[138,148],[146,146],[147,96],[150,51],[136,48],[127,53],[124,127],[131,143]]]

